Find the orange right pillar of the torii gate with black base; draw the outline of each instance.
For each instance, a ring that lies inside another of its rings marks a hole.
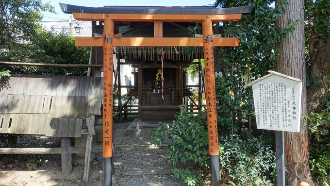
[[[207,126],[209,135],[209,153],[211,166],[211,186],[220,186],[219,142],[216,120],[214,44],[212,21],[203,20],[203,51],[205,61]]]

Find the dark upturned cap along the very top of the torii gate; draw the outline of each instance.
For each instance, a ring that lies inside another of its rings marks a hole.
[[[85,7],[59,3],[66,14],[177,14],[177,15],[226,15],[248,14],[254,5],[233,8],[213,8],[210,6],[103,6]]]

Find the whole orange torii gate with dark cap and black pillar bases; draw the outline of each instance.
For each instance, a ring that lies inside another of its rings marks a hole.
[[[76,46],[103,47],[103,186],[112,186],[113,162],[113,54],[116,47],[203,47],[205,60],[206,104],[212,186],[220,185],[219,149],[217,135],[214,47],[238,46],[238,38],[214,38],[213,21],[228,22],[241,19],[252,11],[253,5],[234,8],[210,7],[82,7],[60,3],[64,13],[77,20],[103,21],[103,37],[76,38]],[[114,37],[114,21],[153,21],[154,37]],[[163,21],[202,22],[202,38],[163,38]],[[141,95],[141,89],[139,89]],[[109,114],[107,114],[109,113]]]

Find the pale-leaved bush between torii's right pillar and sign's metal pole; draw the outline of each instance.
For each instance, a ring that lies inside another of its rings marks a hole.
[[[221,136],[220,169],[222,180],[233,186],[271,186],[271,177],[276,176],[276,155],[271,141],[254,137]]]

